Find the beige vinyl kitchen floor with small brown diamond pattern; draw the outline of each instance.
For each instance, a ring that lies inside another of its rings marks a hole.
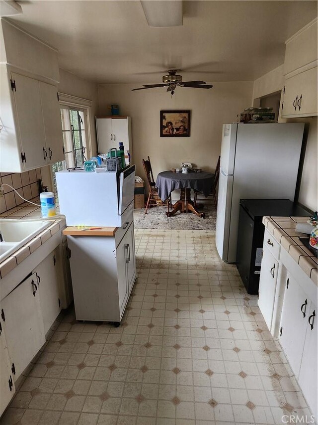
[[[246,294],[235,266],[220,261],[214,232],[135,235],[138,280],[121,326],[65,315],[0,424],[310,418],[256,296]]]

